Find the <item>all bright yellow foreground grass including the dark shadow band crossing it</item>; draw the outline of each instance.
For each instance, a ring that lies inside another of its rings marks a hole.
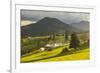
[[[26,54],[21,57],[22,63],[28,62],[53,62],[53,61],[67,61],[67,60],[89,60],[89,48],[84,47],[84,49],[77,51],[69,51],[66,54],[62,54],[62,50],[66,45],[54,48],[53,51],[44,51],[33,54]],[[82,46],[82,47],[83,47]],[[38,50],[39,51],[39,50]]]

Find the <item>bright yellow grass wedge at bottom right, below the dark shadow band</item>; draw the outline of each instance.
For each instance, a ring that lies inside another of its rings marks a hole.
[[[38,62],[68,61],[68,60],[89,60],[89,49],[87,48],[74,54],[40,60]]]

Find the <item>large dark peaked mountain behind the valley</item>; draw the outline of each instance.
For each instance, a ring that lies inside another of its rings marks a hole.
[[[21,27],[21,36],[40,36],[48,35],[51,33],[64,33],[79,32],[81,30],[76,29],[69,24],[62,22],[57,18],[45,17],[39,20],[37,23],[32,23],[27,26]]]

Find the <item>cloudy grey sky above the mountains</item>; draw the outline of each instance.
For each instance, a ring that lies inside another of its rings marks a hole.
[[[67,24],[89,21],[89,13],[21,10],[21,26],[36,23],[44,17],[57,18]]]

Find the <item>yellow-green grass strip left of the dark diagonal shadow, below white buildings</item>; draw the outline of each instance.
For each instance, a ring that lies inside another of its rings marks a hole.
[[[32,54],[32,55],[29,55],[29,56],[24,55],[24,57],[21,57],[21,62],[32,62],[32,61],[43,59],[43,58],[53,57],[53,56],[59,54],[64,47],[65,46],[61,46],[61,47],[58,47],[58,48],[54,48],[53,51],[39,52],[37,54]]]

